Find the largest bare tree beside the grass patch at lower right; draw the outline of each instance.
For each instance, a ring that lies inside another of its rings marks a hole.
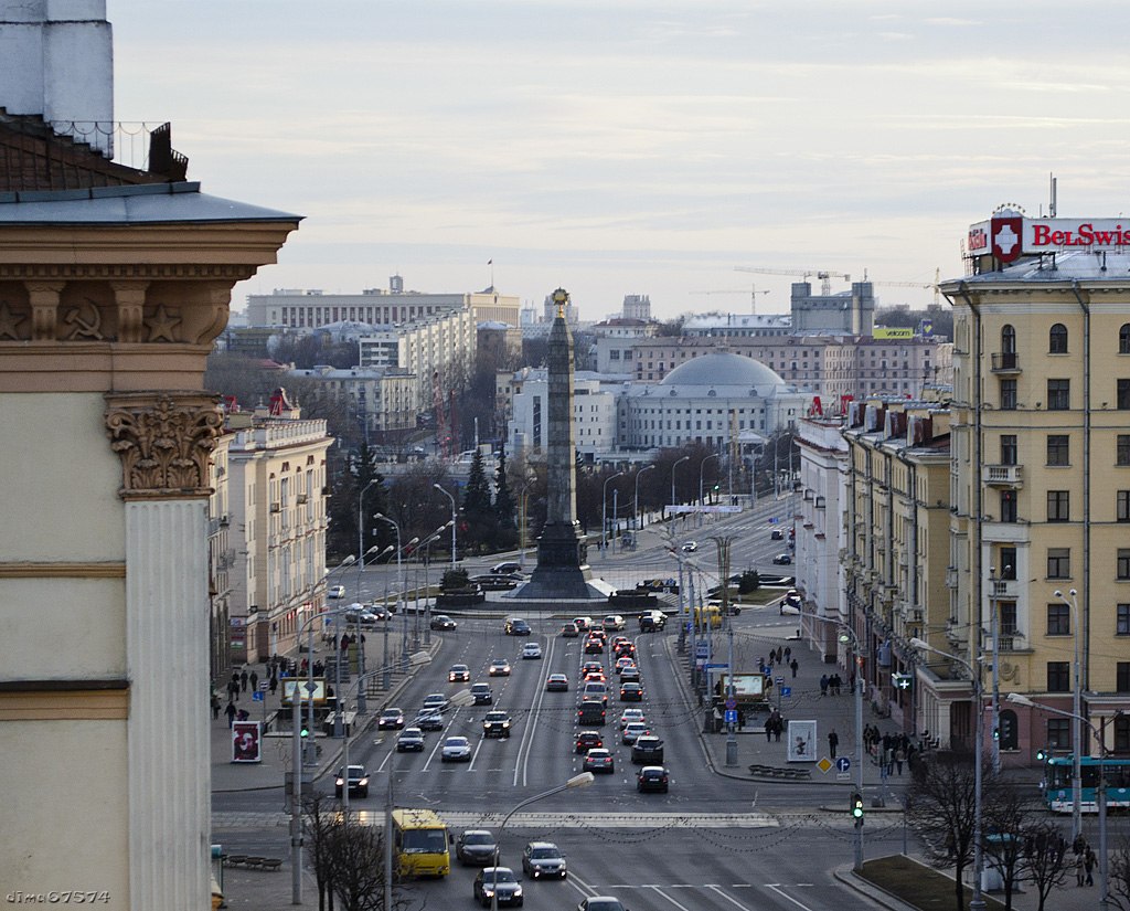
[[[986,780],[991,771],[983,769]],[[965,868],[973,860],[976,818],[975,767],[966,752],[937,752],[914,763],[906,813],[925,843],[935,867],[954,867],[955,908],[964,908]]]

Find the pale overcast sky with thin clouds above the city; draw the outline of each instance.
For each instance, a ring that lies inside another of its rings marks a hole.
[[[1003,202],[1118,216],[1130,5],[108,0],[115,118],[305,216],[235,288],[568,289],[582,319],[788,312],[786,275],[932,283]],[[944,15],[942,15],[944,14]],[[816,283],[816,279],[810,279]],[[845,289],[843,281],[834,289]],[[925,288],[877,287],[921,306]],[[711,292],[710,295],[703,292]],[[762,294],[768,292],[768,294]]]

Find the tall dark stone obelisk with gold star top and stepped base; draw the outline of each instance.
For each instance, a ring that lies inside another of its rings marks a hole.
[[[546,409],[546,526],[538,538],[538,565],[515,589],[519,600],[605,601],[611,591],[591,580],[584,536],[576,521],[576,436],[573,428],[573,336],[565,321],[568,292],[553,294],[557,316],[549,330]]]

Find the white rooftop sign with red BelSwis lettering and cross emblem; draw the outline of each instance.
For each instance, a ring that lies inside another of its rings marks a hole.
[[[1130,248],[1130,219],[999,215],[970,227],[970,253],[988,252],[986,246],[1001,262],[1037,253]]]

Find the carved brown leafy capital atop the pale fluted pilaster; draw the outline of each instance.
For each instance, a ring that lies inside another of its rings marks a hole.
[[[219,396],[106,394],[106,432],[122,460],[123,500],[206,497],[208,458],[223,430]]]

